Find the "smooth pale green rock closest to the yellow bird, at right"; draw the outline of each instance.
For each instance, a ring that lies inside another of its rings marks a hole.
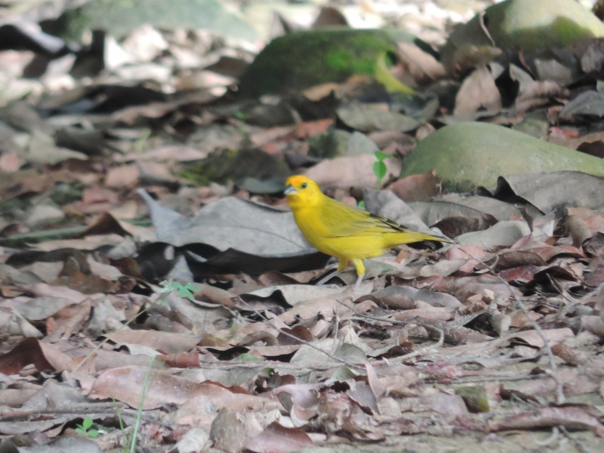
[[[488,123],[445,126],[424,138],[400,176],[436,170],[446,191],[493,187],[499,176],[575,170],[604,176],[604,160]]]

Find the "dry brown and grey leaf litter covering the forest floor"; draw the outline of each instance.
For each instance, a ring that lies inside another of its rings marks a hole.
[[[460,53],[449,73],[404,43],[392,71],[440,93],[414,105],[354,78],[234,100],[252,46],[216,36],[110,38],[108,72],[87,85],[59,65],[22,77],[28,51],[0,53],[22,59],[0,114],[3,448],[109,451],[137,423],[150,451],[601,445],[601,178],[501,175],[445,194],[434,172],[398,178],[425,133],[467,118],[521,128],[537,112],[548,141],[597,150],[601,82],[573,74],[597,69],[599,40],[574,47],[578,60]],[[188,179],[232,150],[241,170]],[[245,160],[259,155],[262,171]],[[330,260],[288,213],[284,168],[457,243],[368,260],[357,292],[350,271],[313,286]],[[190,295],[170,291],[180,282]],[[94,440],[76,434],[85,419]]]

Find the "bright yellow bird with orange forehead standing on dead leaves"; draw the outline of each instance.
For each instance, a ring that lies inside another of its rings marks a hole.
[[[319,251],[336,257],[338,272],[352,262],[358,274],[355,288],[365,275],[364,258],[420,240],[453,242],[444,236],[411,231],[393,220],[342,204],[326,196],[306,176],[290,176],[285,184],[289,207],[306,240]]]

